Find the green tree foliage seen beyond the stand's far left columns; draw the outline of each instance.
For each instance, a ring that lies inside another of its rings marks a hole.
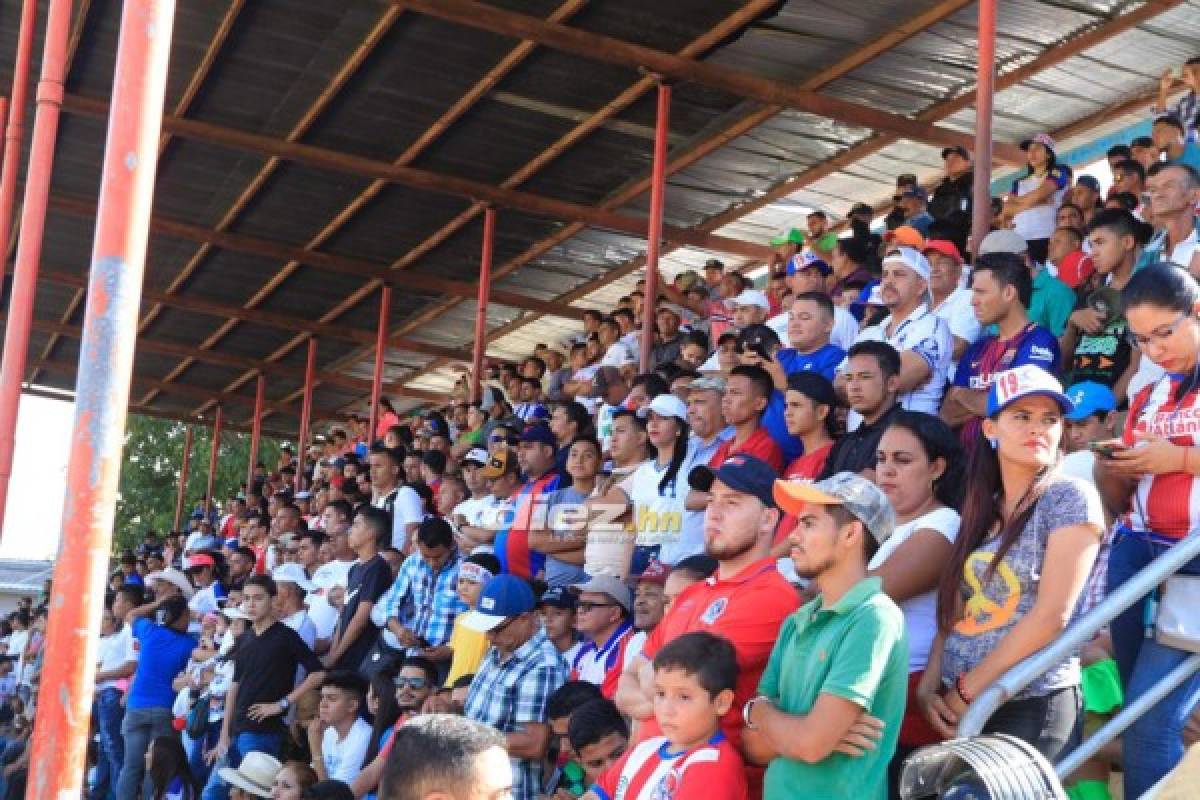
[[[174,420],[131,414],[125,428],[125,451],[121,480],[118,486],[116,527],[113,549],[128,549],[142,541],[148,530],[160,535],[170,530],[175,517],[175,497],[179,491],[179,468],[184,458],[187,426]],[[194,426],[192,461],[187,470],[187,492],[184,500],[181,527],[187,525],[192,509],[204,501],[209,479],[209,453],[212,428]],[[263,437],[258,444],[258,461],[270,467],[280,456],[284,441]],[[224,505],[229,495],[246,481],[250,458],[250,434],[221,434],[217,453],[217,477],[212,487],[214,500]]]

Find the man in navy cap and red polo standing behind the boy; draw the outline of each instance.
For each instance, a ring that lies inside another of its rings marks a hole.
[[[708,631],[730,639],[737,651],[738,681],[721,730],[736,747],[742,746],[738,710],[754,697],[779,628],[799,604],[769,557],[780,517],[772,494],[775,477],[766,462],[744,455],[733,456],[715,471],[704,512],[704,549],[716,559],[716,572],[679,594],[618,684],[617,708],[641,722],[640,739],[659,734],[654,656],[683,633]],[[760,776],[761,770],[750,772],[751,792]]]

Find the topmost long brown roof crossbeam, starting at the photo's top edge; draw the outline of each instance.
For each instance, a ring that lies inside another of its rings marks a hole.
[[[676,80],[690,80],[737,97],[816,114],[847,125],[894,133],[938,146],[974,146],[974,137],[931,126],[908,116],[822,95],[740,70],[697,61],[558,23],[505,11],[475,0],[391,0],[397,7],[493,34],[536,42],[542,47],[624,67],[643,68]],[[996,143],[994,157],[1024,164],[1025,155],[1013,144]],[[684,242],[686,243],[686,242]]]

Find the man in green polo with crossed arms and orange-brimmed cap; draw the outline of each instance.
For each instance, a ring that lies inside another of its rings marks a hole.
[[[797,518],[792,564],[818,594],[779,631],[758,693],[743,709],[744,751],[769,764],[764,800],[791,798],[798,786],[830,800],[882,798],[904,716],[908,642],[904,614],[866,564],[895,513],[877,486],[852,473],[779,481],[775,500]],[[856,728],[877,746],[847,747]]]

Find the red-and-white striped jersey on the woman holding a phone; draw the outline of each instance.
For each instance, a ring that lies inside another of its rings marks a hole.
[[[1164,375],[1129,404],[1123,441],[1134,446],[1134,432],[1163,437],[1181,447],[1200,445],[1200,386],[1176,402],[1180,375]],[[1189,473],[1144,475],[1130,500],[1126,524],[1166,539],[1183,539],[1200,528],[1200,479]]]

